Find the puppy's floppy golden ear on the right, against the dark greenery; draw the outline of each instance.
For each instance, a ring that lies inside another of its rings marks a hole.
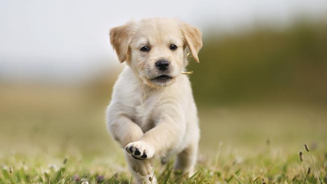
[[[184,41],[186,42],[193,58],[199,61],[198,53],[202,48],[202,32],[199,28],[193,27],[189,24],[182,24],[182,33],[184,36]]]

